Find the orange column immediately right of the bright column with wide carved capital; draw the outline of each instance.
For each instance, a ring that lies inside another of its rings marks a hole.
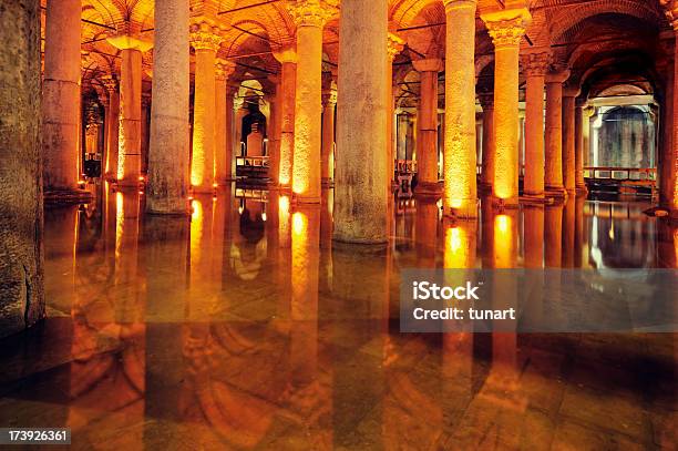
[[[525,92],[525,177],[523,194],[544,197],[544,88],[549,54],[528,53],[523,59]]]

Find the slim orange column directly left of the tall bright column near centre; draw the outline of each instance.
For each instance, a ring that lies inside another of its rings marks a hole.
[[[281,188],[289,188],[292,175],[292,155],[295,150],[295,99],[297,83],[297,52],[294,48],[274,51],[280,62],[280,163],[274,173],[275,183]],[[236,124],[239,126],[239,124]]]

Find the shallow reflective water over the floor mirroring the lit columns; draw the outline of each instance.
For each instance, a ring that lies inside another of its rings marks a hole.
[[[1,342],[0,426],[97,450],[678,447],[674,334],[399,332],[403,268],[676,267],[643,202],[449,224],[396,195],[368,250],[332,246],[331,191],[220,188],[189,219],[101,191],[45,212],[49,318]]]

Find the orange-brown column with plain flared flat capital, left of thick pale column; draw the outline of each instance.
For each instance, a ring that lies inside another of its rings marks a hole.
[[[120,139],[117,148],[117,184],[137,186],[141,176],[142,140],[142,52],[153,45],[132,35],[115,35],[109,43],[121,50],[120,69]]]

